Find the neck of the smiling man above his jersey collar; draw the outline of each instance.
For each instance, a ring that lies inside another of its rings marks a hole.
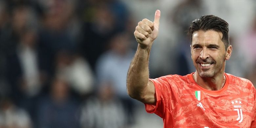
[[[196,71],[193,74],[193,78],[199,86],[211,91],[222,89],[226,82],[224,72],[213,77],[201,77]]]

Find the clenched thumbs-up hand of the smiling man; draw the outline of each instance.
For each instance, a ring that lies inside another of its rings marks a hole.
[[[143,19],[142,21],[139,21],[138,26],[136,26],[134,35],[141,48],[151,48],[153,41],[157,38],[160,13],[160,10],[156,11],[154,22],[151,22],[148,19]]]

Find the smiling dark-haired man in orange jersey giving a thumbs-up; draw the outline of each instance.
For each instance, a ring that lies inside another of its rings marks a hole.
[[[145,104],[146,111],[172,127],[256,127],[255,88],[244,78],[224,73],[230,58],[228,23],[206,15],[194,20],[191,58],[196,71],[149,79],[149,53],[158,36],[160,11],[154,22],[143,19],[134,35],[139,43],[127,76],[128,94]]]

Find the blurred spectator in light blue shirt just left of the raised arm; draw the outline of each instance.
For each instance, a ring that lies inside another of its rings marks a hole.
[[[134,51],[127,33],[116,34],[110,41],[110,50],[103,53],[96,65],[99,87],[105,83],[113,85],[114,94],[121,99],[127,114],[127,123],[134,122],[134,100],[126,92],[126,76]]]

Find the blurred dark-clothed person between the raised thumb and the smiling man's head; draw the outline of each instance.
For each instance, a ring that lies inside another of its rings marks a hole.
[[[187,75],[192,73],[194,65],[190,61],[190,37],[185,32],[188,30],[189,23],[195,20],[195,17],[200,17],[204,14],[204,8],[201,0],[185,0],[178,4],[170,13],[170,20],[173,20],[175,26],[178,27],[177,35],[177,50],[176,51],[176,65],[177,74]],[[173,51],[172,51],[173,52]],[[174,73],[173,73],[174,74]]]

